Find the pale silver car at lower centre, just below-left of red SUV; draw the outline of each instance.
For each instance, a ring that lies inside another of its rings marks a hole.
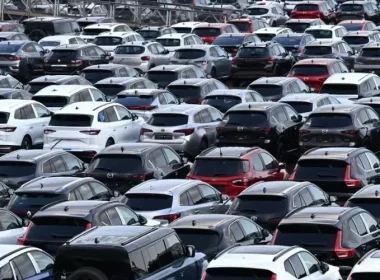
[[[231,200],[198,180],[149,180],[130,189],[121,200],[148,219],[172,222],[194,214],[224,214]]]

